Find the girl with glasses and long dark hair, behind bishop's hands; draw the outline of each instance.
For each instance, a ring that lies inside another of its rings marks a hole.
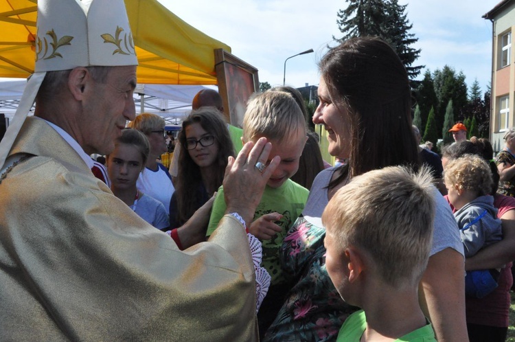
[[[183,225],[213,196],[222,185],[228,157],[234,156],[227,124],[214,107],[192,111],[183,121],[178,139],[187,153],[179,156],[170,227]]]

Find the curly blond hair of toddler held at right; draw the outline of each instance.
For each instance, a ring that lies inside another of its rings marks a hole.
[[[477,192],[477,196],[490,194],[494,183],[490,166],[477,155],[464,155],[448,161],[444,180],[448,186],[457,185],[458,189]]]

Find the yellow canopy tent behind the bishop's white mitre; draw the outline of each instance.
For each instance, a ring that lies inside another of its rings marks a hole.
[[[125,4],[139,83],[217,83],[214,49],[230,52],[229,46],[188,25],[157,0]],[[34,72],[36,14],[36,0],[0,0],[0,77],[27,78]]]

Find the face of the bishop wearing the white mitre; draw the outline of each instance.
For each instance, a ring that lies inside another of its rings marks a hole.
[[[108,155],[115,148],[115,138],[122,135],[127,120],[135,119],[133,92],[136,67],[113,67],[105,83],[94,82],[84,102],[81,118],[82,148],[88,154]]]

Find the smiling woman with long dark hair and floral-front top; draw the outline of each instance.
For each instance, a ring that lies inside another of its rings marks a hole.
[[[313,122],[328,131],[330,154],[349,162],[319,173],[302,216],[284,239],[284,272],[298,282],[264,341],[336,340],[357,308],[341,299],[325,269],[323,209],[354,176],[387,166],[418,168],[409,79],[393,49],[380,38],[352,38],[325,54],[319,67],[320,104]],[[463,245],[448,204],[434,192],[435,232],[420,304],[439,341],[467,341]]]

